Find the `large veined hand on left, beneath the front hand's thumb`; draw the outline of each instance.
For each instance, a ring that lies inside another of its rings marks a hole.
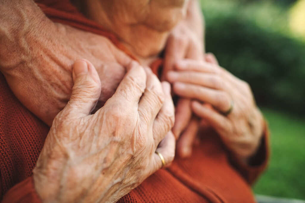
[[[32,31],[20,33],[16,40],[7,36],[4,51],[12,54],[0,54],[0,69],[15,96],[37,117],[50,126],[65,107],[77,58],[91,61],[99,74],[102,93],[98,107],[113,95],[131,59],[106,37],[49,19],[29,26]]]

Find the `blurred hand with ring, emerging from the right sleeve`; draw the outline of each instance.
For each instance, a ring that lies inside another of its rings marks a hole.
[[[262,114],[249,85],[221,68],[212,54],[206,58],[208,62],[179,61],[167,78],[173,83],[174,93],[195,100],[193,112],[217,131],[228,149],[246,159],[260,144]]]

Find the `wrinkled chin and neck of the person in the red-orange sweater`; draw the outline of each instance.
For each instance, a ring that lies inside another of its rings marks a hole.
[[[188,0],[74,2],[85,8],[88,18],[115,33],[139,60],[160,53],[171,29],[185,17],[188,5]]]

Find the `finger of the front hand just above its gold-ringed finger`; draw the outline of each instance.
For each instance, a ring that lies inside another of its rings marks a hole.
[[[165,100],[152,127],[156,144],[170,131],[175,122],[175,107],[170,94],[170,84],[168,82],[162,82],[161,85],[165,94]]]

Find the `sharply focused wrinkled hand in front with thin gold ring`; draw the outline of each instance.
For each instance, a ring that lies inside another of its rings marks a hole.
[[[115,202],[162,167],[155,151],[167,164],[173,160],[170,85],[135,62],[130,66],[114,95],[90,115],[100,79],[90,62],[75,62],[70,101],[54,119],[33,171],[44,202]]]

